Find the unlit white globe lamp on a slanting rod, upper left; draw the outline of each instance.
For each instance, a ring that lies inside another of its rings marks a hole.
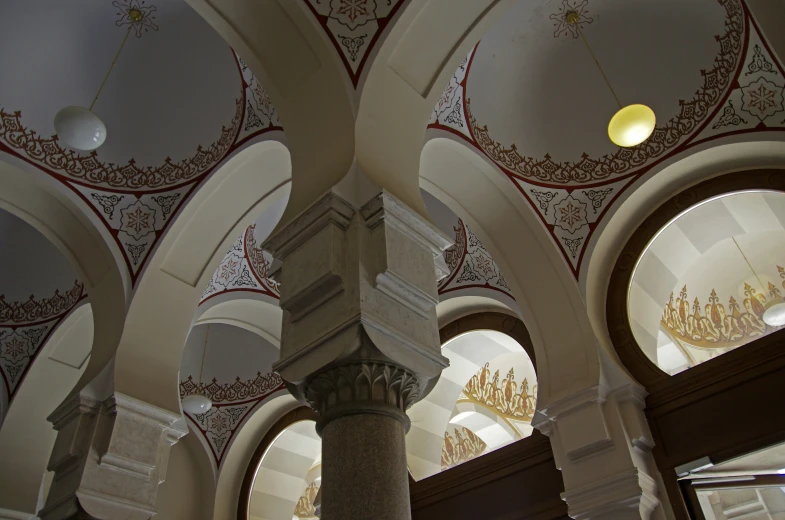
[[[106,85],[106,80],[109,79],[109,74],[112,73],[112,69],[114,68],[115,63],[117,63],[117,59],[120,57],[120,52],[122,52],[125,42],[131,34],[131,29],[142,21],[143,15],[139,9],[131,8],[128,11],[128,18],[131,20],[131,23],[128,25],[128,31],[125,33],[123,41],[120,43],[120,48],[117,49],[117,54],[115,54],[111,65],[109,65],[109,70],[106,71],[101,86],[98,87],[98,92],[96,92],[93,102],[90,103],[90,108],[68,106],[61,109],[55,115],[55,132],[57,133],[58,138],[68,148],[80,152],[90,152],[106,141],[106,125],[101,121],[100,117],[95,115],[93,107],[95,106],[95,102],[98,101],[98,96],[101,95],[101,91],[103,90],[104,85]]]

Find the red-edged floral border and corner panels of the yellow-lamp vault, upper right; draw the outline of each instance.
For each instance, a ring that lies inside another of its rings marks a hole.
[[[785,69],[743,1],[717,1],[725,11],[725,32],[716,37],[714,63],[701,71],[703,85],[693,99],[676,100],[677,115],[658,125],[639,146],[618,148],[602,157],[584,153],[577,162],[559,162],[548,154],[524,156],[515,143],[495,140],[493,129],[473,116],[466,95],[477,47],[458,67],[434,108],[429,137],[449,133],[491,159],[539,216],[578,279],[603,218],[622,193],[665,160],[719,138],[785,130]],[[590,5],[590,0],[564,0],[550,17],[554,37],[576,36],[572,26],[562,23],[570,10],[579,11],[581,27],[594,22]]]

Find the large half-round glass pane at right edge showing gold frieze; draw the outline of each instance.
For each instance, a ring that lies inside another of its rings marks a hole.
[[[628,309],[636,342],[672,375],[779,330],[782,265],[785,194],[730,192],[690,206],[635,265]]]

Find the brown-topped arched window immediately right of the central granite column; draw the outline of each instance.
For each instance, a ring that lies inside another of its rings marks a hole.
[[[534,348],[519,319],[472,314],[442,327],[440,340],[450,367],[409,411],[407,457],[417,480],[527,437],[536,408]]]

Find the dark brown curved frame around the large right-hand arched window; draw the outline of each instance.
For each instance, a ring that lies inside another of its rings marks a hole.
[[[638,258],[651,239],[684,210],[718,195],[754,189],[785,191],[785,174],[782,170],[747,170],[715,177],[685,189],[654,210],[619,252],[608,285],[607,328],[619,359],[647,389],[661,385],[670,376],[644,354],[630,325],[627,298]]]

